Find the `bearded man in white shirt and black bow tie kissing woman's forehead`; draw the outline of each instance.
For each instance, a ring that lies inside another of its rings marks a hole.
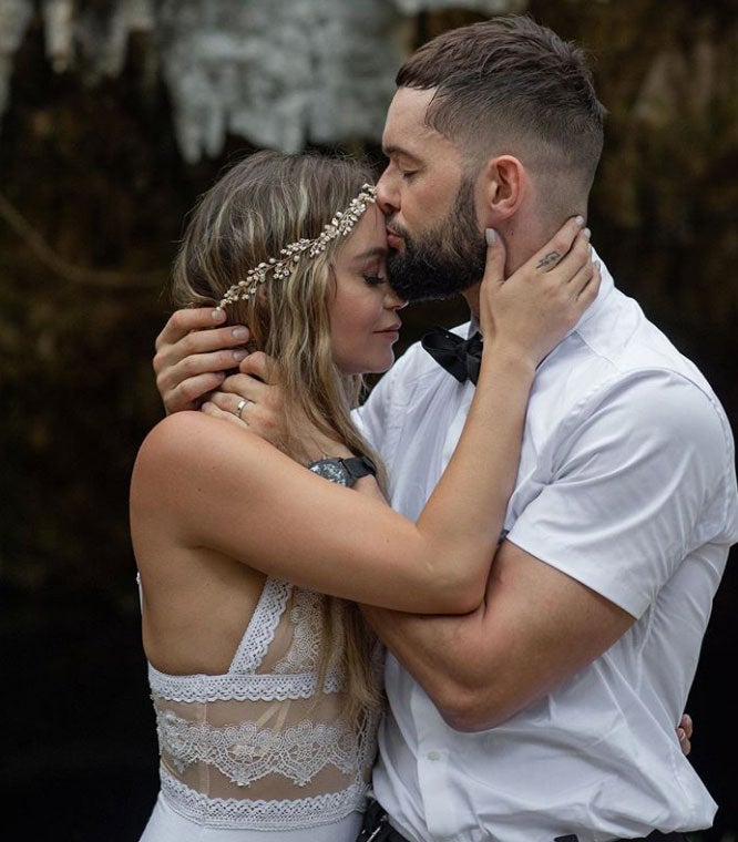
[[[378,183],[391,283],[410,300],[462,292],[465,336],[484,228],[513,271],[586,216],[604,109],[582,53],[524,17],[435,38],[397,83]],[[239,361],[246,333],[188,332],[209,319],[175,314],[157,339],[170,412]],[[460,377],[413,346],[358,411],[408,517],[458,440],[473,391]],[[234,383],[254,399],[248,378],[227,381],[214,400],[232,412]],[[711,824],[674,727],[738,541],[734,465],[709,384],[603,267],[598,299],[539,368],[484,604],[366,608],[392,655],[362,839],[683,840]]]

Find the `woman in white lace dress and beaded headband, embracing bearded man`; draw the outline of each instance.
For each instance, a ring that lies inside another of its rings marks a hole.
[[[536,363],[596,296],[576,220],[545,274],[536,255],[502,283],[504,249],[490,245],[464,432],[418,522],[403,518],[350,420],[361,374],[393,361],[403,306],[370,181],[349,161],[256,153],[189,218],[174,301],[249,326],[252,350],[275,361],[288,432],[277,448],[177,412],[140,449],[131,535],[161,753],[142,842],[355,839],[382,705],[381,649],[357,603],[481,603]]]

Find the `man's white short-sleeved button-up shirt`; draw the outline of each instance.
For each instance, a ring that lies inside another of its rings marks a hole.
[[[358,411],[408,517],[438,482],[472,397],[414,345]],[[539,368],[505,530],[636,622],[479,733],[449,728],[389,656],[373,789],[392,824],[413,842],[604,842],[709,826],[716,804],[675,727],[738,541],[732,437],[705,378],[604,267],[597,300]]]

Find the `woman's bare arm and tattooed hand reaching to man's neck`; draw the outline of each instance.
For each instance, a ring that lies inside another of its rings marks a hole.
[[[488,296],[496,315],[485,327],[490,338],[475,397],[457,452],[418,523],[315,476],[235,424],[177,413],[152,431],[139,455],[131,497],[136,552],[160,553],[172,543],[207,547],[367,604],[414,613],[473,609],[514,482],[535,364],[555,343],[554,333],[563,336],[596,294],[586,240],[578,227],[562,230],[558,248],[568,254],[543,278],[533,258],[503,281],[503,249],[490,248],[483,325],[492,318]],[[541,283],[547,304],[536,310],[531,304],[541,298]]]

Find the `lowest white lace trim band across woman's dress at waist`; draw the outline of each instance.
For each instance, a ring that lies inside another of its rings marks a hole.
[[[239,830],[293,830],[317,828],[344,819],[353,810],[363,810],[369,789],[352,783],[339,792],[280,801],[208,798],[189,789],[164,769],[160,770],[162,793],[182,815],[206,826]]]

